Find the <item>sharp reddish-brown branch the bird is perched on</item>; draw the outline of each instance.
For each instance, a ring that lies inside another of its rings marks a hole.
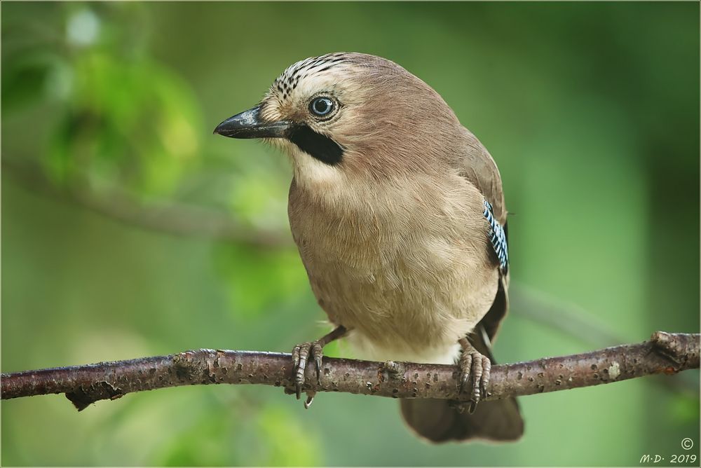
[[[653,333],[651,340],[579,355],[494,366],[484,400],[554,392],[656,373],[699,368],[697,333]],[[307,392],[465,400],[456,367],[325,358],[319,383],[308,366]],[[65,393],[79,410],[131,392],[210,383],[262,384],[293,391],[292,359],[273,352],[191,350],[175,355],[3,373],[2,399]]]

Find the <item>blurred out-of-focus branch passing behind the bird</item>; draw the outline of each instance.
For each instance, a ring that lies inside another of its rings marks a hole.
[[[144,203],[114,188],[97,192],[81,181],[83,177],[74,177],[72,183],[60,186],[50,181],[38,165],[20,163],[20,160],[3,158],[1,167],[26,190],[83,207],[129,226],[169,235],[240,242],[253,247],[284,249],[292,246],[292,236],[283,230],[243,226],[226,212],[216,209],[165,200]],[[624,341],[576,305],[554,300],[515,281],[511,283],[510,294],[512,303],[518,304],[512,308],[513,315],[545,324],[594,346]],[[697,392],[698,389],[691,380],[657,382],[675,391]]]

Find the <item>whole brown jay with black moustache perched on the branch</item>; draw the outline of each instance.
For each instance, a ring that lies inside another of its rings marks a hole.
[[[334,325],[294,347],[297,398],[307,364],[319,376],[323,347],[344,338],[365,359],[458,366],[468,405],[400,400],[423,439],[522,436],[516,399],[480,401],[508,310],[501,175],[430,85],[375,55],[310,57],[214,133],[262,139],[292,160],[292,238]]]

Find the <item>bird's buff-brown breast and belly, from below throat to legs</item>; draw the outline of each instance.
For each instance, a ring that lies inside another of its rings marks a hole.
[[[289,215],[318,303],[362,357],[449,362],[496,295],[481,207],[461,178],[333,198],[293,181]]]

